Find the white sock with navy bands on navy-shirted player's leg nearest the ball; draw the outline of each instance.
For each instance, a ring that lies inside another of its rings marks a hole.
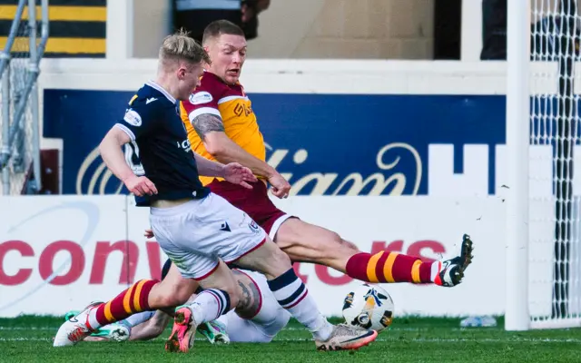
[[[325,341],[330,338],[333,325],[320,313],[309,290],[294,270],[288,270],[268,283],[281,307],[287,309],[294,319],[309,329],[315,339]]]

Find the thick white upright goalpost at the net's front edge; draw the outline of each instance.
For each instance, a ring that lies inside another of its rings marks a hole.
[[[530,2],[507,1],[507,330],[529,329],[529,57]]]

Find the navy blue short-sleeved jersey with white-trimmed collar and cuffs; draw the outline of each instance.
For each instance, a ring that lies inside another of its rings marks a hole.
[[[125,145],[125,160],[158,191],[145,198],[135,197],[139,206],[155,200],[200,199],[210,191],[200,182],[178,107],[159,84],[148,82],[129,102],[123,120],[115,124],[132,140]]]

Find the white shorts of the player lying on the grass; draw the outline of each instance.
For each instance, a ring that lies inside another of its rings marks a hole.
[[[261,307],[251,319],[242,319],[232,309],[226,314],[227,331],[233,342],[268,343],[287,326],[291,313],[282,309],[274,298],[264,275],[240,270],[256,284],[261,294]]]

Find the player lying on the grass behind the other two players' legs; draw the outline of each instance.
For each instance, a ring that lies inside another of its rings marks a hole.
[[[171,260],[162,269],[162,280],[170,270]],[[211,343],[252,342],[268,343],[283,329],[291,314],[282,309],[268,287],[266,278],[257,272],[232,270],[236,282],[242,289],[242,299],[236,309],[217,320],[198,327]],[[192,299],[195,295],[192,296]],[[65,318],[78,311],[67,313]],[[163,312],[144,311],[123,321],[104,326],[84,341],[98,340],[148,340],[159,337],[172,316]]]

